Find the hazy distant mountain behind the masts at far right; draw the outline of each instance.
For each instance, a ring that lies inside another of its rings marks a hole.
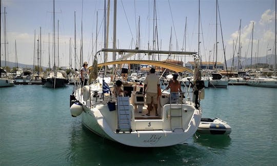
[[[269,64],[269,65],[274,65],[275,63],[275,55],[267,55],[267,56],[262,56],[262,57],[252,57],[252,65],[254,64]],[[267,60],[266,60],[267,59]],[[232,66],[232,61],[233,58],[226,60],[227,67],[230,68]],[[242,67],[249,66],[251,65],[251,57],[241,57],[241,65]],[[234,65],[233,67],[238,66],[238,56],[234,57]]]

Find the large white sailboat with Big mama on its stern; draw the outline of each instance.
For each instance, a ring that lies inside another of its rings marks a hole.
[[[198,67],[197,69],[200,67],[200,61],[197,60],[199,57],[195,52],[102,49],[95,56],[101,52],[193,55],[196,59],[195,66]],[[155,60],[110,61],[98,65],[96,63],[96,67],[94,63],[94,66],[90,66],[88,70],[93,73],[93,69],[97,69],[97,67],[115,64],[146,64],[175,72],[191,72],[186,67]],[[199,72],[199,70],[195,70],[195,72]],[[172,103],[170,94],[162,93],[159,100],[159,116],[145,115],[147,109],[145,97],[141,93],[143,87],[136,85],[138,82],[124,84],[124,90],[128,91],[127,94],[131,94],[130,96],[115,97],[111,93],[105,93],[112,91],[112,87],[110,88],[105,81],[74,88],[70,96],[71,115],[73,117],[81,115],[84,126],[97,135],[127,146],[173,146],[186,141],[199,127],[202,116],[199,97],[200,90],[204,88],[204,82],[200,84],[200,78],[197,76],[200,74],[195,74],[195,88],[193,88],[192,94],[186,94],[186,98],[180,95],[177,102]]]

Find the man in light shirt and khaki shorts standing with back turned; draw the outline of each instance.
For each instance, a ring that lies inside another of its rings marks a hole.
[[[147,75],[144,81],[144,94],[146,93],[146,103],[147,103],[147,116],[150,116],[150,110],[152,108],[152,104],[154,104],[155,108],[155,116],[159,116],[157,113],[157,90],[160,87],[160,79],[155,74],[155,69],[150,69],[150,74]]]

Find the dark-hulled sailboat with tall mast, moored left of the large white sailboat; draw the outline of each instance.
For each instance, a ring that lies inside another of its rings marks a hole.
[[[53,0],[53,48],[54,48],[54,66],[53,71],[48,72],[46,77],[43,78],[44,86],[49,88],[65,87],[68,83],[68,79],[65,78],[66,72],[62,70],[56,70],[55,64],[55,1]]]

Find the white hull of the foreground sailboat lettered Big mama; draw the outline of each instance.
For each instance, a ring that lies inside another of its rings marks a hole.
[[[182,143],[196,132],[202,115],[200,110],[194,110],[187,128],[175,129],[174,131],[170,130],[170,128],[163,129],[163,126],[168,127],[169,122],[166,118],[144,120],[133,119],[131,123],[132,132],[116,133],[117,121],[114,120],[113,125],[111,126],[112,122],[107,121],[107,119],[110,118],[107,117],[108,115],[105,115],[113,114],[111,117],[117,117],[117,115],[115,115],[117,114],[116,111],[109,111],[108,107],[106,107],[106,110],[102,109],[102,111],[97,108],[90,110],[86,106],[83,106],[83,109],[82,123],[86,128],[104,138],[132,147],[167,147]],[[164,113],[164,115],[166,115],[166,113]],[[153,129],[149,126],[150,124],[153,125]],[[141,130],[136,130],[136,128]],[[143,128],[145,130],[142,130]],[[155,130],[154,128],[160,130]]]

